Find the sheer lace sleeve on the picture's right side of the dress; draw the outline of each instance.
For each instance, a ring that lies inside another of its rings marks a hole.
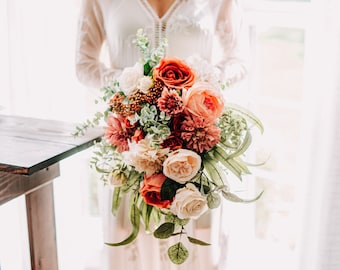
[[[247,73],[246,38],[243,35],[241,10],[235,0],[224,0],[216,25],[222,55],[217,63],[223,79],[230,84],[240,81]]]

